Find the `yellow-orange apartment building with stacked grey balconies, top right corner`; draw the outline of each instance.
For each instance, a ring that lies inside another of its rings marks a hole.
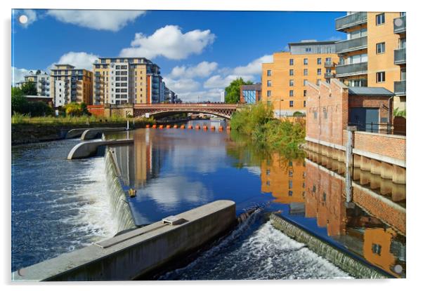
[[[384,87],[395,93],[393,107],[405,109],[405,13],[349,12],[335,29],[346,33],[336,43],[337,78],[350,87]]]

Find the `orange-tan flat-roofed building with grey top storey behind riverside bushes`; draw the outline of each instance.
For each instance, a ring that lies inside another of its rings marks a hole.
[[[289,43],[288,52],[274,53],[273,62],[262,65],[262,102],[273,105],[275,117],[305,114],[307,83],[329,82],[338,60],[335,41]]]

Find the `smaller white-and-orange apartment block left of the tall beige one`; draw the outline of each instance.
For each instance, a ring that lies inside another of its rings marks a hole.
[[[57,64],[51,69],[50,92],[55,107],[70,102],[93,104],[93,72],[72,65]]]

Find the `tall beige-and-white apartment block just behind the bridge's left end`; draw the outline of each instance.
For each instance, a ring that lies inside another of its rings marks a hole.
[[[93,64],[94,104],[164,101],[160,67],[145,57],[99,57]]]

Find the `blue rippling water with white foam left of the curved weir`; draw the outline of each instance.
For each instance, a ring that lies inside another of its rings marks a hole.
[[[117,233],[105,159],[67,161],[79,140],[12,149],[12,271]]]

